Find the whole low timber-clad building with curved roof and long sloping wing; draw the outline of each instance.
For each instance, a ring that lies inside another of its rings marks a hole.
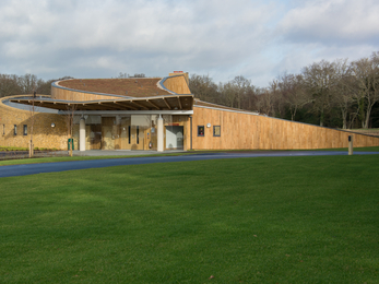
[[[34,111],[32,111],[34,106]],[[32,116],[33,114],[33,116]],[[201,102],[188,73],[166,78],[73,79],[52,83],[51,97],[0,100],[0,145],[67,149],[288,150],[377,146],[379,138],[261,116]],[[33,122],[34,121],[34,122]]]

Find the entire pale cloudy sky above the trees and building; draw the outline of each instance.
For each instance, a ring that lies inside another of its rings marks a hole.
[[[265,87],[379,51],[378,0],[1,0],[0,73],[242,75]]]

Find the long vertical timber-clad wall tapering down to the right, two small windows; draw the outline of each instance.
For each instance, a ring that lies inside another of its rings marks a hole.
[[[198,127],[204,126],[204,135]],[[210,126],[210,127],[208,127]],[[220,137],[214,127],[220,126]],[[194,150],[301,150],[347,147],[348,135],[355,147],[379,146],[379,138],[254,114],[193,107],[192,149]]]

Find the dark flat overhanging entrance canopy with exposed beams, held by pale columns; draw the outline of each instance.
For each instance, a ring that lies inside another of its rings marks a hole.
[[[193,95],[168,95],[144,98],[114,98],[98,100],[60,100],[49,97],[12,98],[12,103],[35,105],[57,110],[192,110]]]

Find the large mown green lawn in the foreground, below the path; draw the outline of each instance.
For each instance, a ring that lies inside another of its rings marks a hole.
[[[378,162],[264,157],[1,178],[0,283],[378,283]]]

